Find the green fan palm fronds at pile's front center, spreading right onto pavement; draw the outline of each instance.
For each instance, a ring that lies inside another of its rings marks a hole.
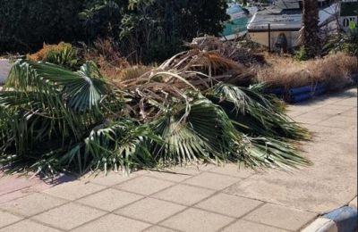
[[[226,112],[204,96],[155,121],[153,130],[165,145],[157,147],[159,162],[236,162],[251,168],[292,170],[309,162],[294,145],[274,138],[246,137]],[[157,153],[157,152],[156,152]]]

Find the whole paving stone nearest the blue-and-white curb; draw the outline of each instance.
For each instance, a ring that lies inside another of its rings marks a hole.
[[[317,217],[317,214],[308,211],[297,211],[276,204],[265,204],[256,211],[245,216],[244,220],[260,222],[277,228],[298,230]]]

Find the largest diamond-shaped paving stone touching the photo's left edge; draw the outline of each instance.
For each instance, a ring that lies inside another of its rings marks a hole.
[[[33,194],[21,197],[12,202],[0,204],[0,209],[30,217],[42,211],[66,203],[65,200],[50,195]]]

